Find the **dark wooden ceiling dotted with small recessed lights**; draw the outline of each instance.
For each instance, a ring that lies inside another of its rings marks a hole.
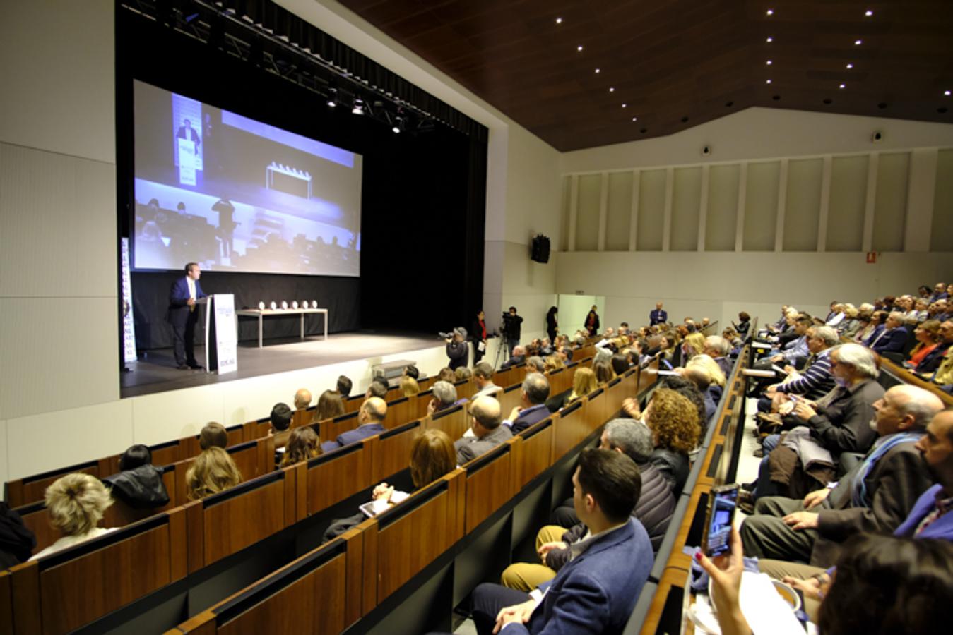
[[[560,150],[751,106],[953,121],[948,0],[342,4]]]

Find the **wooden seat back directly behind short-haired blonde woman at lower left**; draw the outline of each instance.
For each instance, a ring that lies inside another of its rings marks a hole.
[[[187,571],[182,507],[10,569],[13,630],[67,633]]]

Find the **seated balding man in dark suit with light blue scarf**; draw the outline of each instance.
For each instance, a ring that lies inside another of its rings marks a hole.
[[[803,501],[761,499],[741,526],[747,556],[810,561],[831,566],[841,543],[861,531],[893,531],[930,486],[916,444],[926,424],[943,409],[940,398],[901,384],[875,405],[878,442],[835,486]],[[814,509],[817,510],[814,510]]]

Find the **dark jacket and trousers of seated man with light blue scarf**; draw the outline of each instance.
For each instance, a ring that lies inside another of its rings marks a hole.
[[[817,511],[818,528],[795,531],[781,520],[803,509],[801,501],[769,496],[758,501],[756,515],[741,526],[746,556],[808,560],[814,566],[835,564],[841,543],[862,531],[889,533],[901,525],[918,497],[930,486],[929,474],[913,443],[891,447],[864,479],[869,506],[851,502],[851,491],[863,463],[841,477]]]

